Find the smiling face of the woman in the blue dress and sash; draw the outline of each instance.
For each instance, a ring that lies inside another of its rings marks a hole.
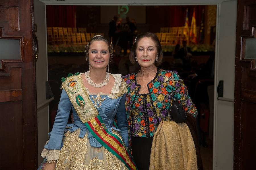
[[[108,66],[110,52],[104,41],[93,41],[90,44],[88,61],[93,69],[104,69]]]

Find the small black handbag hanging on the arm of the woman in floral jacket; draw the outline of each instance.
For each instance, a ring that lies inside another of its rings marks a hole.
[[[184,111],[182,105],[178,101],[175,101],[172,104],[170,115],[172,120],[177,123],[183,123],[187,118],[186,112]]]

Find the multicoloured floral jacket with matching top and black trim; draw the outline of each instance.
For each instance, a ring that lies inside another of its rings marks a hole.
[[[196,107],[188,95],[187,87],[179,79],[176,71],[158,68],[155,78],[147,84],[148,94],[139,94],[141,86],[136,81],[138,73],[123,76],[128,87],[125,107],[129,138],[154,136],[162,120],[172,120],[170,109],[175,100],[179,101],[186,113],[197,116]]]

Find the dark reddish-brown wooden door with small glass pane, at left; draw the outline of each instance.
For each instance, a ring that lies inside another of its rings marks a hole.
[[[32,0],[0,0],[0,169],[37,169]]]

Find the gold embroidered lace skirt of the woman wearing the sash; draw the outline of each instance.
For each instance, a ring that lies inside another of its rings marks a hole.
[[[119,133],[112,129],[115,135]],[[87,138],[78,137],[80,129],[74,132],[67,131],[63,139],[59,160],[55,170],[126,170],[127,167],[104,146],[92,147]],[[120,137],[121,139],[121,137]]]

